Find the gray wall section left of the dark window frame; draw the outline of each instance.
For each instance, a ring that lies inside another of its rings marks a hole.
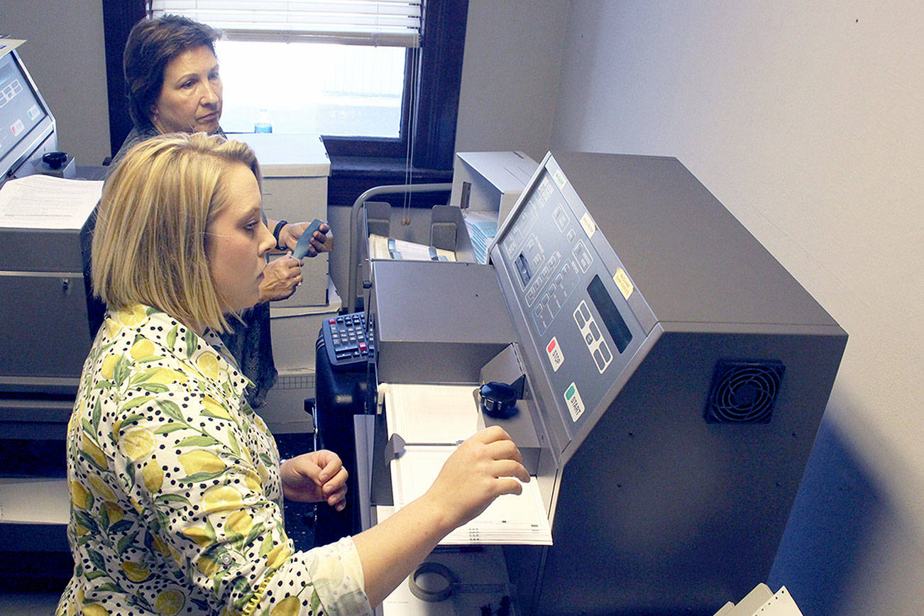
[[[58,149],[79,165],[110,155],[100,0],[0,0],[0,34],[18,53],[57,121]]]

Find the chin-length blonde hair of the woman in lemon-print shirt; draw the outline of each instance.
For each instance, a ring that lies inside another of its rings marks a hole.
[[[228,195],[226,170],[246,165],[246,143],[176,133],[128,151],[103,187],[92,247],[92,284],[110,309],[160,308],[188,326],[229,329],[209,269],[206,229]]]

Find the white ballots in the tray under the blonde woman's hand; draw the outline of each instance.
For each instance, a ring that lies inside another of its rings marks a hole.
[[[476,389],[474,385],[380,385],[389,439],[398,443],[390,462],[395,511],[430,488],[458,443],[484,427]],[[552,545],[535,477],[522,485],[521,494],[498,497],[440,545]]]

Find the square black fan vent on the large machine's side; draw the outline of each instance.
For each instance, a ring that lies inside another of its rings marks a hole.
[[[776,360],[718,362],[706,405],[706,421],[769,422],[785,369]]]

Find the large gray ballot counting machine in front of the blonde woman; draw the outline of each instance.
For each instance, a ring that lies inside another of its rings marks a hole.
[[[553,535],[504,547],[520,613],[711,614],[767,579],[847,336],[681,163],[549,153],[488,265],[377,261],[369,292],[378,383],[518,389],[485,424]]]

